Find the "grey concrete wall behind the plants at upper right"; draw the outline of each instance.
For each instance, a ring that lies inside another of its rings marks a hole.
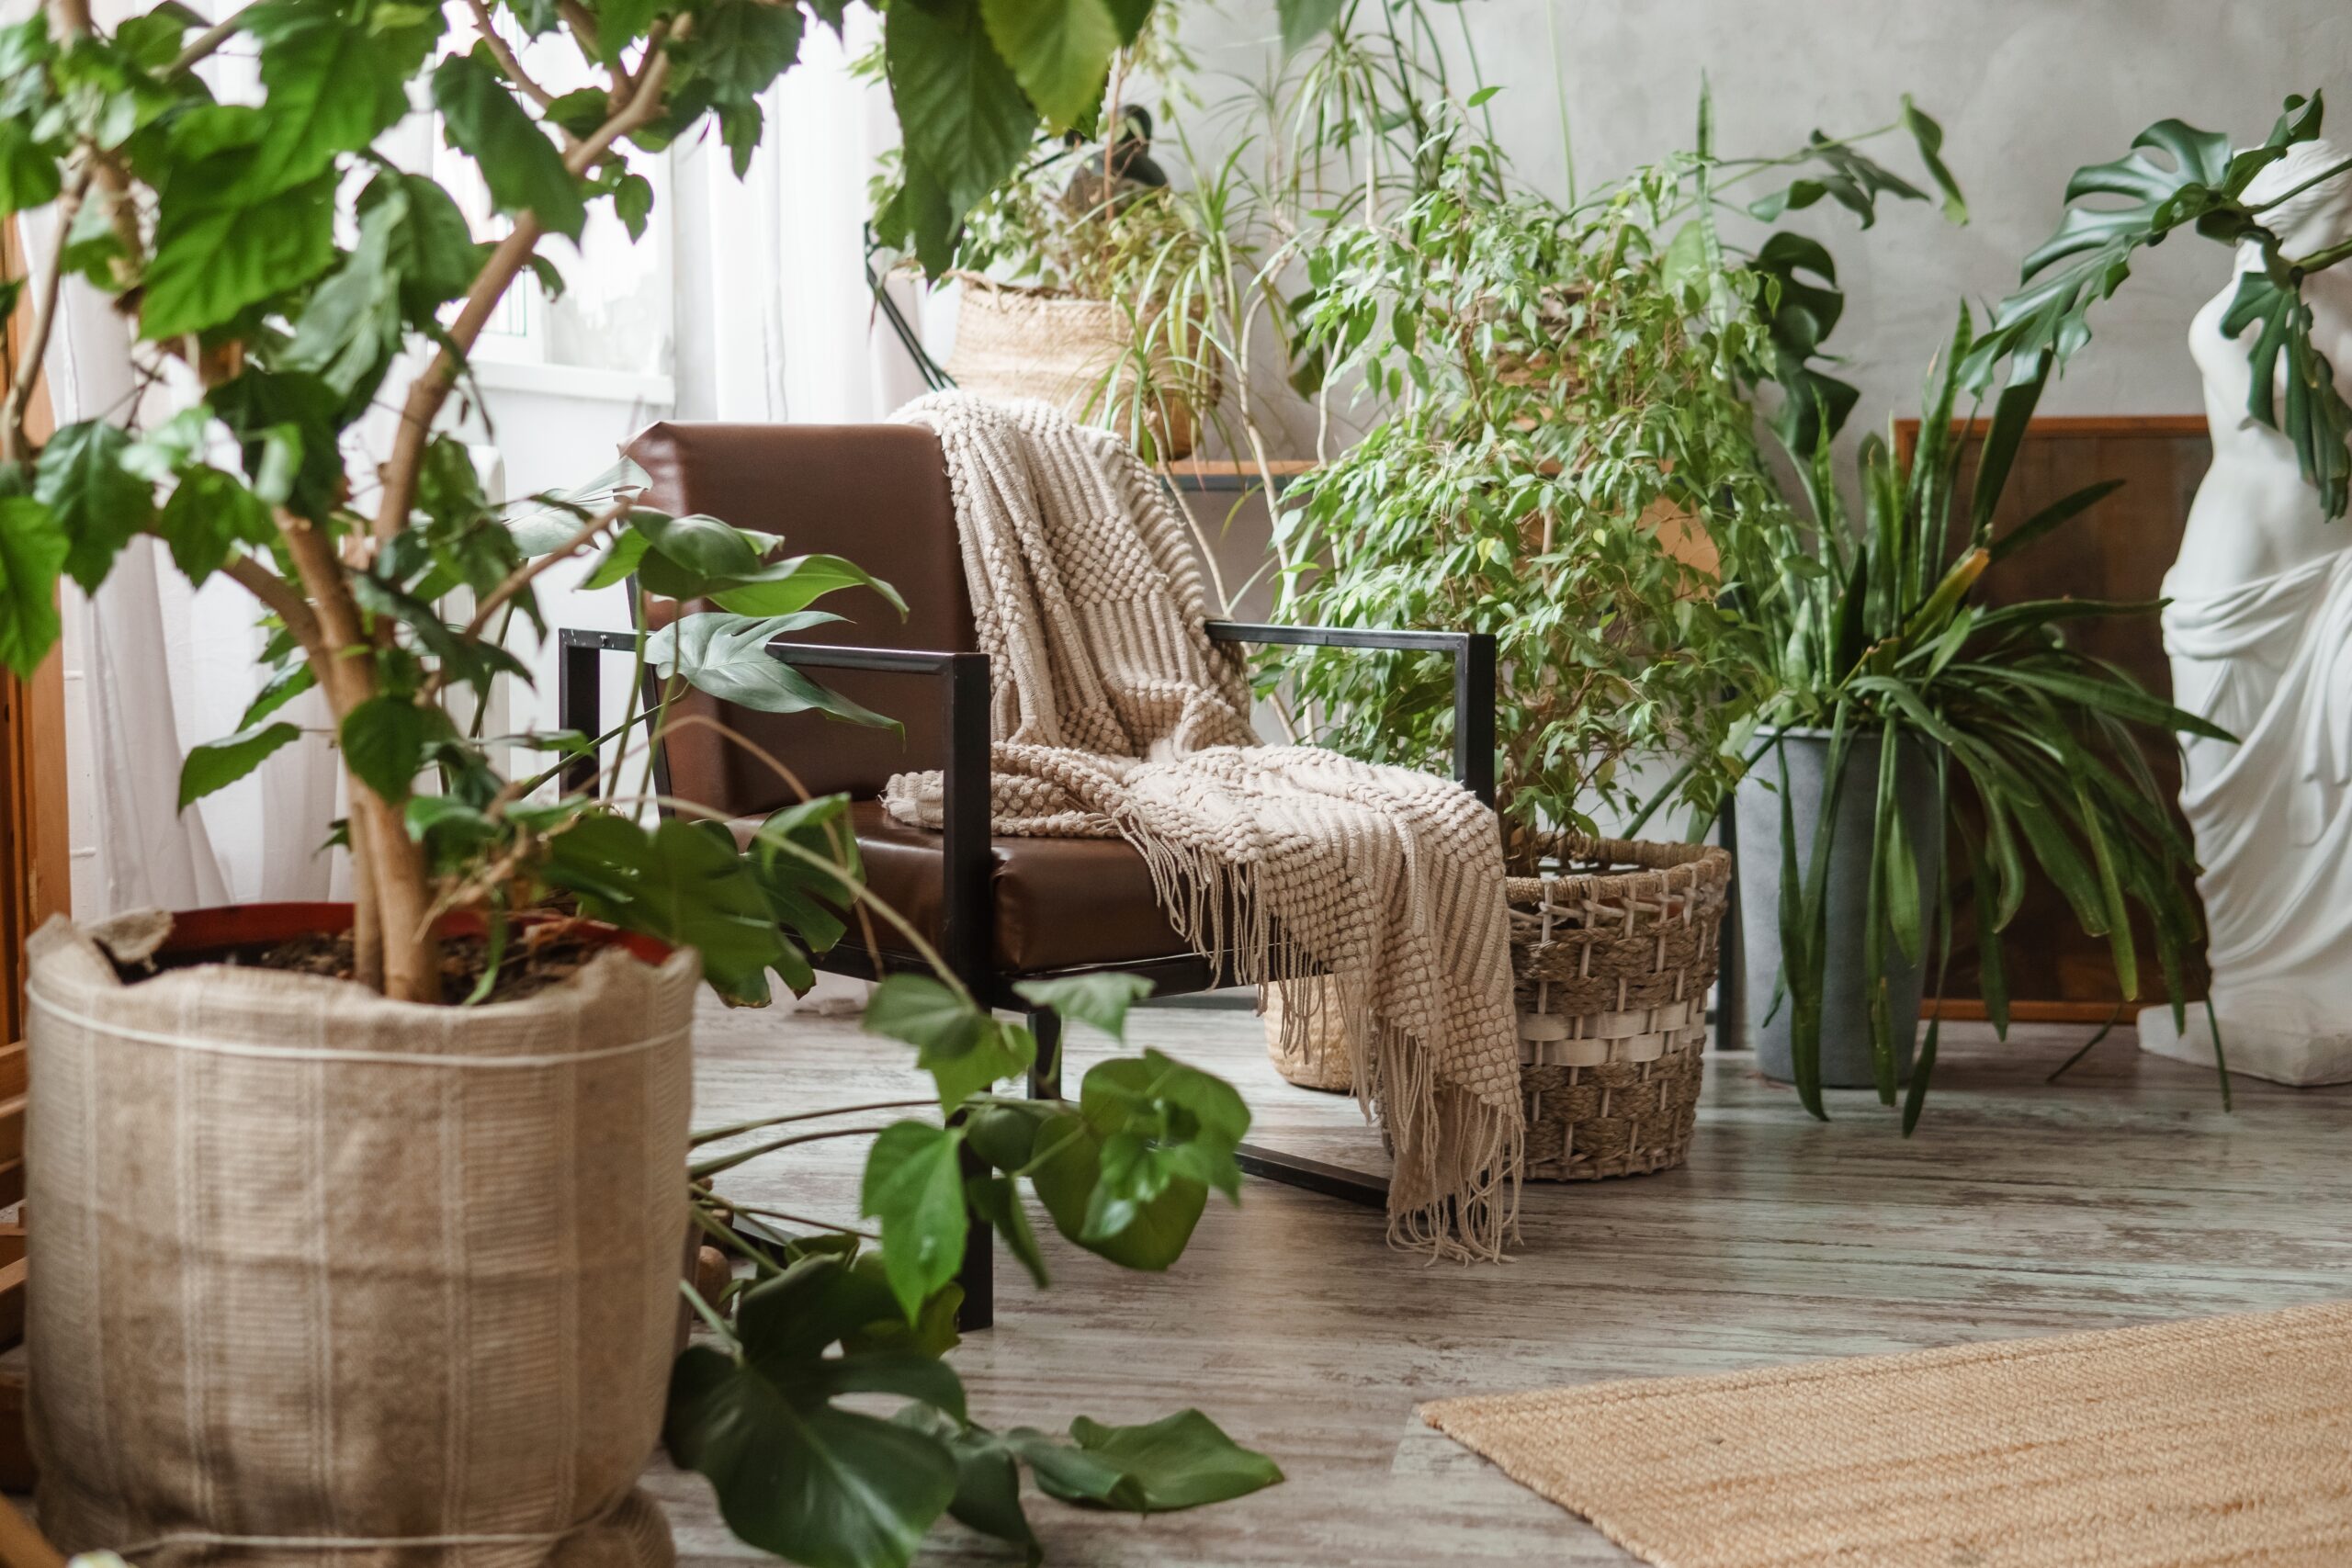
[[[1691,143],[1700,73],[1724,153],[1780,153],[1813,127],[1884,125],[1903,92],[1943,120],[1969,228],[1922,205],[1870,233],[1828,205],[1792,219],[1839,259],[1849,306],[1832,346],[1851,362],[1856,418],[1870,425],[1917,411],[1919,374],[1959,299],[2013,287],[2077,165],[2122,155],[2166,115],[2260,141],[2279,101],[2312,87],[2343,87],[2336,129],[2352,134],[2352,7],[2340,0],[1461,0],[1484,78],[1503,85],[1496,127],[1519,174],[1552,195],[1566,179],[1545,2],[1588,190]],[[1188,35],[1204,66],[1263,59],[1251,38],[1261,24],[1235,26],[1256,9],[1228,0],[1225,16],[1195,16]],[[1223,92],[1209,85],[1202,96]],[[1917,169],[1900,139],[1884,148],[1898,172]],[[2093,348],[2046,411],[2194,414],[2183,336],[2227,270],[2220,247],[2192,235],[2147,254],[2100,306]]]

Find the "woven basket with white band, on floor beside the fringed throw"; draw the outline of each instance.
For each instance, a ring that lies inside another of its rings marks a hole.
[[[1526,1175],[1668,1171],[1698,1121],[1731,856],[1628,839],[1557,849],[1562,875],[1505,884]]]

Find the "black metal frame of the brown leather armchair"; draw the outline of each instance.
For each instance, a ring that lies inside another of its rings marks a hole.
[[[1496,639],[1491,632],[1385,632],[1345,630],[1317,625],[1258,625],[1244,621],[1209,621],[1214,642],[1251,646],[1315,646],[1315,649],[1385,649],[1418,654],[1451,654],[1454,658],[1454,780],[1494,804],[1494,705],[1496,705]],[[602,731],[600,715],[600,661],[604,654],[633,654],[635,632],[562,630],[555,708],[564,729],[583,736]],[[1061,1018],[1049,1009],[1035,1009],[1014,990],[1014,980],[1058,980],[1077,973],[1134,973],[1152,983],[1155,997],[1185,997],[1232,985],[1225,964],[1207,954],[1183,954],[1143,959],[1136,964],[1101,964],[1089,969],[1056,969],[1007,976],[995,966],[995,898],[990,889],[990,823],[988,823],[988,656],[985,654],[934,654],[915,649],[851,649],[809,642],[776,639],[767,644],[774,658],[802,670],[880,670],[889,675],[913,675],[927,679],[938,701],[941,729],[948,736],[948,757],[941,769],[943,825],[941,863],[946,886],[941,889],[938,954],[948,969],[990,1009],[1018,1011],[1028,1016],[1030,1032],[1037,1034],[1037,1065],[1030,1070],[1028,1093],[1033,1098],[1061,1095]],[[644,677],[644,703],[659,701],[659,682]],[[567,788],[583,788],[595,776],[595,759],[583,757],[567,773]],[[668,766],[656,748],[654,776],[668,795]],[[866,947],[840,945],[828,954],[816,954],[816,969],[828,973],[880,980],[884,973],[908,969],[894,964],[891,954]],[[1303,1154],[1270,1150],[1244,1143],[1237,1150],[1242,1171],[1263,1180],[1303,1187],[1324,1197],[1348,1199],[1383,1208],[1388,1182],[1362,1171],[1324,1164]],[[985,1328],[995,1319],[995,1248],[983,1222],[974,1220],[971,1241],[964,1248],[964,1309],[962,1328]]]

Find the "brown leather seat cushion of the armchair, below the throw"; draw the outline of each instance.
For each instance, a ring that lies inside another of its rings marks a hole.
[[[938,945],[946,856],[941,835],[908,827],[882,802],[856,802],[851,823],[866,858],[866,886]],[[739,835],[755,818],[736,825]],[[995,964],[1021,976],[1089,964],[1138,964],[1192,952],[1176,936],[1143,856],[1124,839],[993,839]],[[875,922],[884,952],[906,952],[896,931]],[[856,936],[842,938],[858,940]]]

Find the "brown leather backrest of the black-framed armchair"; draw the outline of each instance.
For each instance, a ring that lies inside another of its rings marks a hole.
[[[849,621],[797,632],[802,642],[870,649],[976,649],[955,498],[938,437],[920,425],[717,425],[659,423],[628,447],[652,477],[647,503],[703,512],[739,529],[783,536],[786,555],[842,555],[906,597],[906,621],[863,590],[842,590],[818,609]],[[708,607],[687,607],[708,609]],[[649,599],[663,625],[680,607]],[[946,759],[938,686],[910,675],[826,670],[816,679],[906,724],[842,724],[823,715],[769,715],[689,693],[673,712],[706,712],[774,752],[811,795],[870,797],[891,773]],[[668,743],[670,792],[729,816],[774,811],[795,799],[774,769],[706,726]]]

